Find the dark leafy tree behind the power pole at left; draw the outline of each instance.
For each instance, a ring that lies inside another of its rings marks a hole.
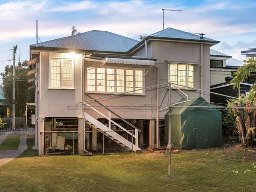
[[[16,66],[16,91],[15,91],[15,105],[16,116],[22,117],[25,114],[26,103],[35,102],[35,89],[28,90],[28,87],[32,86],[28,83],[28,79],[32,78],[27,75],[28,70],[27,61],[18,63]],[[6,100],[4,101],[6,107],[9,107],[12,111],[13,102],[13,65],[7,65],[4,72],[1,73],[3,78],[2,87]]]

